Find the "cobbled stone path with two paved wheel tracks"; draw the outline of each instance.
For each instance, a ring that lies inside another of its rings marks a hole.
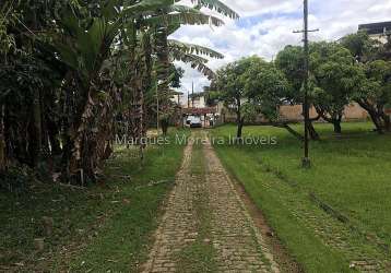
[[[178,253],[200,233],[194,197],[200,191],[209,200],[206,240],[215,250],[216,272],[280,272],[211,144],[203,144],[204,175],[191,173],[192,149],[189,142],[144,272],[187,272],[177,266]]]

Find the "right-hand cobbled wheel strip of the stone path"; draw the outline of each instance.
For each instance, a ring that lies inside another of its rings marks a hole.
[[[217,262],[234,272],[279,272],[239,194],[210,143],[204,146]],[[266,268],[266,270],[262,270]],[[227,271],[228,272],[228,271]]]

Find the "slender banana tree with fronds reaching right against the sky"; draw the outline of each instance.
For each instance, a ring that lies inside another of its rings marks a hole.
[[[200,55],[209,56],[211,58],[223,58],[221,54],[214,50],[197,45],[168,39],[168,36],[175,33],[181,24],[213,24],[215,26],[221,26],[224,24],[221,19],[209,16],[202,13],[200,11],[201,7],[216,10],[217,12],[233,19],[238,17],[236,12],[220,1],[211,0],[192,2],[197,3],[197,7],[190,8],[183,5],[171,5],[157,16],[147,20],[149,24],[156,24],[155,48],[158,61],[158,96],[159,100],[162,102],[162,109],[157,109],[157,111],[162,111],[161,117],[163,124],[168,124],[168,119],[170,116],[170,97],[173,93],[169,91],[168,86],[170,76],[169,63],[174,60],[180,60],[190,63],[192,68],[198,69],[209,79],[212,79],[214,73],[205,66],[208,59],[201,57]]]

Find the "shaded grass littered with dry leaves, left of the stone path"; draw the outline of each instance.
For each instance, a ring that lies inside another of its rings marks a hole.
[[[17,197],[0,193],[0,271],[137,271],[182,149],[174,141],[150,146],[141,166],[134,151],[119,147],[106,178],[84,190],[36,182]],[[50,236],[44,216],[54,221]],[[34,247],[36,238],[45,238],[44,250]]]

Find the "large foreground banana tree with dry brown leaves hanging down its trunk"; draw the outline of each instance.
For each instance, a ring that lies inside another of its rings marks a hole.
[[[103,110],[98,107],[100,96],[105,93],[102,74],[105,62],[112,56],[116,38],[121,29],[131,29],[135,16],[142,16],[153,9],[166,7],[167,0],[144,0],[133,5],[123,7],[119,1],[102,5],[99,16],[80,17],[69,7],[59,24],[63,32],[55,35],[55,47],[58,58],[68,66],[69,76],[64,84],[66,100],[75,105],[68,114],[71,116],[64,135],[63,174],[66,177],[78,174],[82,181],[94,179],[99,157],[93,156],[99,132],[99,117]],[[131,39],[132,37],[130,37]],[[131,51],[132,49],[130,49]],[[133,76],[139,82],[139,74]],[[71,104],[71,105],[72,105]]]

